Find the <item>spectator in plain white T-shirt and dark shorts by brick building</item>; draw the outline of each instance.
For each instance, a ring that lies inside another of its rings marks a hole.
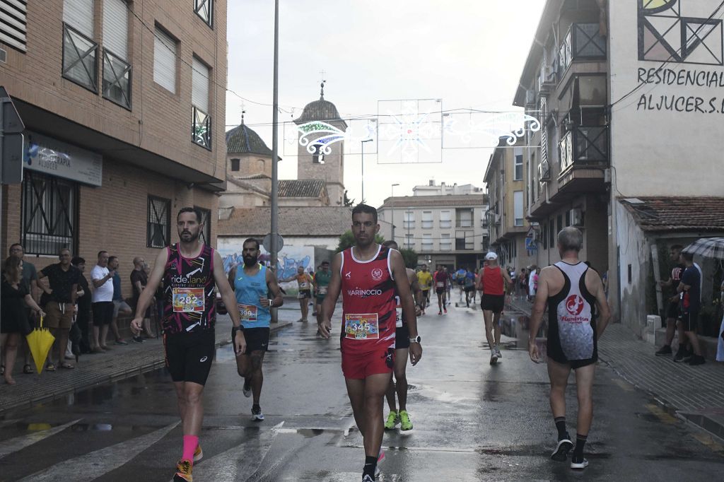
[[[98,264],[90,270],[93,282],[93,352],[111,350],[106,344],[108,326],[113,319],[113,272],[108,269],[108,251],[98,251]]]

